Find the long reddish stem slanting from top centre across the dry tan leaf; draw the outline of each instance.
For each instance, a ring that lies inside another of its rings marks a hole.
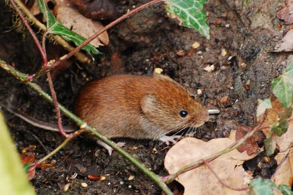
[[[69,52],[64,58],[59,59],[53,65],[51,65],[50,67],[47,67],[46,69],[44,69],[43,70],[43,73],[54,69],[62,61],[71,58],[76,52],[78,52],[79,50],[81,50],[86,44],[88,44],[90,41],[92,41],[93,39],[95,39],[96,37],[98,37],[99,35],[101,35],[102,33],[104,33],[106,30],[108,30],[112,26],[116,25],[117,23],[121,22],[122,20],[125,20],[129,16],[135,14],[136,12],[138,12],[138,11],[144,9],[144,8],[146,8],[147,6],[150,6],[150,5],[155,4],[157,2],[160,2],[160,1],[164,1],[164,0],[152,0],[152,1],[149,1],[146,4],[143,4],[142,6],[139,6],[139,7],[135,8],[135,9],[131,10],[130,12],[126,13],[125,15],[121,16],[120,18],[112,21],[111,23],[109,23],[108,25],[106,25],[104,28],[102,28],[101,30],[99,30],[98,32],[96,32],[95,34],[93,34],[92,36],[90,36],[88,39],[86,39],[82,44],[80,44],[79,46],[77,46],[71,52]]]

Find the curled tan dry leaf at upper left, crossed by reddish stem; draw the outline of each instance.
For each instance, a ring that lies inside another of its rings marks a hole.
[[[84,17],[79,11],[77,11],[77,9],[75,9],[72,3],[66,0],[60,2],[54,7],[54,13],[57,20],[59,20],[65,27],[86,39],[104,27],[100,22]],[[90,43],[95,47],[107,45],[109,43],[107,32],[102,33]]]

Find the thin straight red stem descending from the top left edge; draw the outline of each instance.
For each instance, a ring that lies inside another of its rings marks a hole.
[[[44,53],[44,51],[42,50],[42,46],[40,41],[38,40],[36,34],[34,33],[33,29],[30,27],[30,25],[27,23],[27,21],[25,20],[21,10],[18,8],[18,6],[16,5],[16,3],[13,0],[9,0],[12,7],[15,9],[16,13],[18,14],[18,16],[20,17],[21,21],[23,22],[23,24],[25,25],[26,29],[28,30],[28,32],[30,33],[30,35],[32,36],[35,44],[37,45],[37,48],[42,56],[42,67],[45,68],[47,66],[47,56]],[[33,80],[33,76],[29,76],[28,81],[32,81]]]

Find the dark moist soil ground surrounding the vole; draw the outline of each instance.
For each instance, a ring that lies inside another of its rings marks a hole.
[[[146,0],[115,1],[117,8],[125,12],[133,5]],[[256,122],[255,110],[258,98],[268,98],[271,81],[284,68],[287,54],[272,53],[276,42],[284,34],[282,21],[276,11],[284,6],[282,0],[209,0],[208,13],[210,39],[204,39],[195,30],[181,27],[167,17],[163,4],[156,4],[137,13],[108,31],[110,44],[101,48],[105,60],[96,57],[93,65],[75,61],[70,68],[54,78],[58,100],[69,110],[81,86],[94,78],[113,74],[150,75],[154,68],[180,82],[190,92],[202,90],[198,96],[209,109],[219,109],[219,115],[211,117],[195,137],[210,140],[228,137],[237,124],[252,126]],[[41,58],[31,37],[11,29],[12,12],[0,1],[0,59],[28,74],[41,66]],[[154,36],[155,35],[155,36]],[[200,47],[192,48],[197,41]],[[227,55],[222,55],[222,50]],[[185,55],[176,54],[183,50]],[[230,58],[229,58],[230,57]],[[204,71],[213,64],[213,72]],[[46,78],[37,83],[48,92]],[[56,123],[54,108],[17,79],[0,70],[0,104],[21,108],[26,114]],[[11,134],[19,151],[36,145],[32,153],[37,159],[45,156],[63,141],[58,133],[33,127],[18,117],[2,110],[7,118]],[[70,121],[63,117],[64,124]],[[44,148],[39,143],[42,142]],[[125,150],[141,160],[156,174],[164,176],[164,157],[169,149],[165,144],[151,140],[125,141]],[[262,142],[260,142],[262,145]],[[264,154],[244,164],[253,176],[270,178],[276,163],[263,161]],[[63,150],[50,158],[54,168],[37,169],[32,185],[40,195],[160,195],[161,190],[138,169],[117,152],[108,156],[105,149],[83,136],[71,141]],[[50,160],[47,161],[50,163]],[[262,169],[257,166],[262,163]],[[68,181],[68,177],[78,176]],[[88,174],[102,175],[103,181],[91,181]],[[128,180],[129,176],[135,176]],[[64,193],[63,187],[72,182]],[[84,188],[81,183],[88,187]],[[171,188],[183,188],[173,183]]]

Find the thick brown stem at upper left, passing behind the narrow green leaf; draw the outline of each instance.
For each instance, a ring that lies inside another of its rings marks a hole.
[[[21,0],[14,0],[14,2],[17,4],[17,6],[20,8],[21,12],[23,14],[25,14],[25,16],[27,17],[27,19],[30,22],[32,22],[37,28],[39,28],[43,32],[47,31],[46,26],[43,25],[38,19],[36,19],[30,13],[30,11],[25,7],[25,5],[23,5]],[[66,49],[69,52],[74,49],[74,47],[72,47],[68,42],[66,42],[64,39],[62,39],[59,35],[50,35],[49,37],[51,39],[55,39],[60,45],[62,45],[64,47],[64,49]],[[81,52],[75,53],[74,56],[76,57],[76,59],[78,59],[82,63],[86,63],[86,64],[91,63],[91,59],[89,59],[86,55],[84,55]]]

